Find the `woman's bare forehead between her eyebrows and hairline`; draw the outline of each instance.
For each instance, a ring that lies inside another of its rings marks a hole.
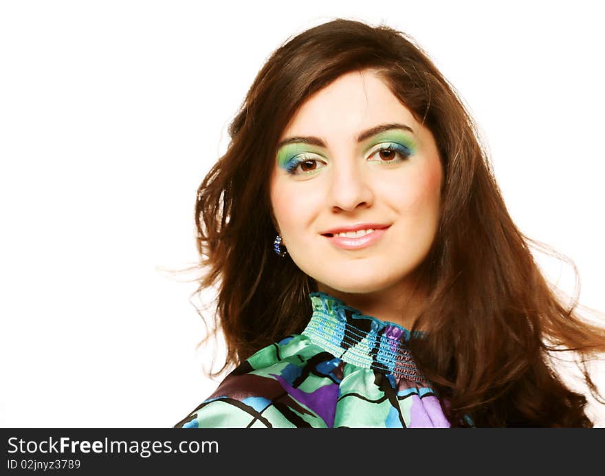
[[[307,98],[289,120],[280,140],[311,134],[327,140],[353,138],[360,130],[386,122],[418,127],[409,109],[375,73],[349,72]]]

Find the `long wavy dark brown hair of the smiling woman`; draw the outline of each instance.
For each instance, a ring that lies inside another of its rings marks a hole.
[[[300,332],[316,283],[273,251],[269,177],[283,127],[311,94],[344,73],[377,74],[432,132],[443,165],[439,229],[417,268],[429,290],[410,348],[452,426],[592,426],[586,398],[553,371],[569,349],[605,351],[605,331],[542,276],[507,213],[478,129],[428,54],[386,25],[336,19],[302,32],[267,60],[228,129],[230,144],[199,186],[198,291],[217,289],[227,344],[221,370]],[[578,365],[580,365],[578,363]],[[219,370],[219,372],[221,371]],[[219,372],[215,372],[214,375]],[[584,365],[582,374],[597,389]]]

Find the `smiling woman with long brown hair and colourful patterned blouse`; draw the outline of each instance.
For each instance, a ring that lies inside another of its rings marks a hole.
[[[236,368],[176,426],[593,425],[550,360],[604,351],[605,331],[553,294],[408,36],[299,34],[230,136],[196,222]]]

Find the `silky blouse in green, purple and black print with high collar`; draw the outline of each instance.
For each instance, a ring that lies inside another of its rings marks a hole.
[[[323,292],[302,334],[257,351],[177,428],[450,426],[406,340]]]

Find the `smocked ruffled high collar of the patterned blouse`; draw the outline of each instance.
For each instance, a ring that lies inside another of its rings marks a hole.
[[[421,337],[423,332],[410,333],[399,324],[367,316],[325,292],[311,292],[309,299],[313,314],[303,335],[316,345],[344,362],[426,382],[406,346],[411,334]]]

